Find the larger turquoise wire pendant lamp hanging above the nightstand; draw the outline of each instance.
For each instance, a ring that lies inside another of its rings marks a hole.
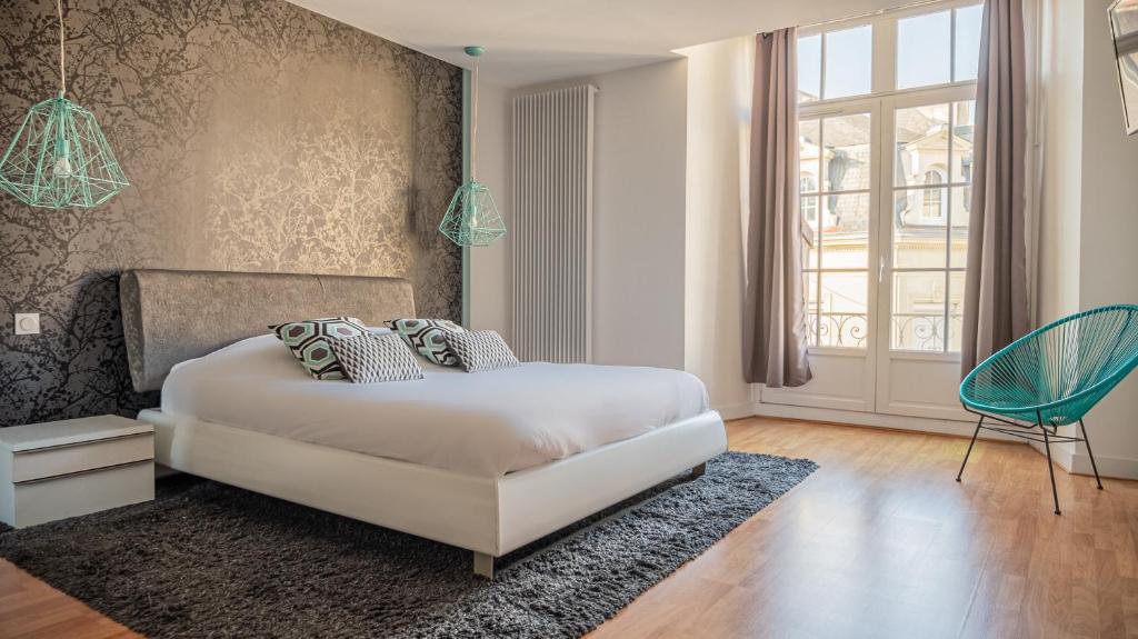
[[[64,8],[59,13],[59,96],[32,107],[0,159],[0,189],[42,208],[90,208],[130,186],[94,115],[66,98]]]

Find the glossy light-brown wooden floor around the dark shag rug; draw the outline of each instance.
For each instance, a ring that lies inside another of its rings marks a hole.
[[[822,468],[589,637],[1138,637],[1138,482],[967,440],[743,420]],[[0,561],[0,638],[137,637]]]

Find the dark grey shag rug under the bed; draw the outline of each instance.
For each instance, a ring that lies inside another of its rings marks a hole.
[[[726,453],[498,559],[212,481],[0,531],[0,556],[149,637],[579,637],[817,468]]]

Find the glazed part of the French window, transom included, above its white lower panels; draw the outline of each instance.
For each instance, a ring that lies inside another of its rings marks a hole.
[[[981,18],[949,0],[800,30],[813,347],[867,348],[876,299],[890,349],[959,350]]]

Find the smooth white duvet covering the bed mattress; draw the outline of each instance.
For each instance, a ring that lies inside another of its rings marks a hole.
[[[419,362],[423,380],[319,381],[275,337],[261,335],[175,366],[162,389],[162,410],[501,476],[708,409],[703,383],[681,371],[530,363],[465,373]]]

